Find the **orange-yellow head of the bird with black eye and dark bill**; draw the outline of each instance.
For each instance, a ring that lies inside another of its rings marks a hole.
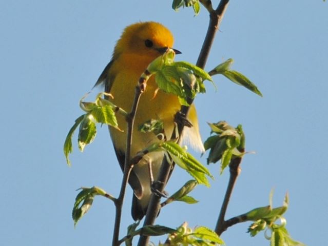
[[[160,23],[139,22],[126,27],[115,46],[113,58],[120,54],[149,57],[149,61],[173,46],[172,33]],[[175,50],[176,54],[181,52]]]

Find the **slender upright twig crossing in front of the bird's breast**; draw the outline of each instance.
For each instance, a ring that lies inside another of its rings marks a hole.
[[[128,117],[126,117],[127,139],[126,139],[126,150],[125,150],[125,160],[124,160],[124,171],[123,171],[123,179],[122,179],[120,195],[115,202],[115,223],[114,223],[114,232],[113,232],[113,240],[112,240],[113,246],[120,245],[119,233],[120,233],[123,200],[124,200],[124,195],[125,195],[127,183],[129,180],[129,176],[130,176],[131,170],[133,168],[133,165],[130,161],[130,159],[131,159],[130,153],[131,153],[131,146],[132,146],[132,133],[133,133],[134,118],[136,116],[136,111],[138,108],[139,99],[140,99],[142,92],[143,92],[143,89],[141,89],[139,86],[137,86],[136,93],[134,94],[131,112],[129,113]]]

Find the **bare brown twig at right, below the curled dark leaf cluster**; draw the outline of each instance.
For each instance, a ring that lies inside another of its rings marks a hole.
[[[229,163],[229,171],[230,171],[230,178],[229,178],[229,183],[228,183],[228,187],[227,190],[225,192],[225,196],[224,196],[224,200],[221,206],[221,210],[220,210],[220,214],[219,214],[219,218],[217,221],[217,225],[215,227],[215,232],[220,236],[222,232],[224,232],[226,230],[226,228],[224,228],[224,216],[225,213],[227,211],[227,207],[228,207],[228,203],[231,197],[231,194],[234,190],[234,186],[237,180],[237,177],[240,173],[240,168],[239,165],[241,163],[241,157],[236,157],[231,159],[230,163]]]

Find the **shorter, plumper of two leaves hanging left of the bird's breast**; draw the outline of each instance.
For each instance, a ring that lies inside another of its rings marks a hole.
[[[85,114],[80,124],[78,137],[79,149],[82,152],[84,147],[93,141],[96,133],[97,129],[95,128],[93,116],[91,114]]]

